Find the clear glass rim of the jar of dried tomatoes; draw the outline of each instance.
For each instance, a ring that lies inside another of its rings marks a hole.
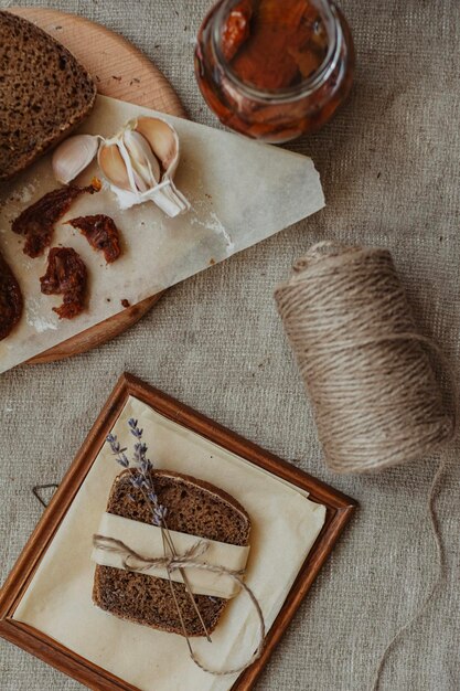
[[[234,0],[227,0],[218,8],[211,39],[212,49],[216,57],[216,65],[225,72],[225,76],[243,95],[254,100],[269,102],[270,104],[282,104],[286,102],[291,103],[313,94],[329,79],[331,73],[338,64],[343,44],[341,21],[335,6],[332,2],[329,0],[314,0],[321,4],[322,19],[329,38],[328,53],[318,70],[315,70],[312,75],[300,82],[300,84],[296,84],[295,86],[288,86],[279,89],[261,89],[257,86],[247,84],[238,77],[234,70],[232,70],[228,62],[224,59],[220,45],[221,26],[224,20],[224,12],[228,4],[233,1]]]

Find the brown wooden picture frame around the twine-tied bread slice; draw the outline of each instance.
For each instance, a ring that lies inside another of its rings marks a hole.
[[[14,610],[42,556],[51,544],[68,507],[105,443],[108,432],[116,423],[130,395],[141,400],[174,423],[307,490],[312,501],[322,503],[327,508],[323,529],[266,636],[261,657],[239,676],[232,688],[232,691],[249,691],[310,589],[334,543],[350,521],[357,503],[342,492],[127,373],[119,379],[0,592],[0,636],[86,684],[89,689],[139,691],[136,687],[82,658],[42,631],[13,619]]]

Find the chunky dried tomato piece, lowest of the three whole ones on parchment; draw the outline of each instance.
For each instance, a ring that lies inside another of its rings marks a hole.
[[[72,247],[53,247],[47,257],[46,274],[41,277],[45,295],[63,295],[61,307],[53,307],[61,319],[77,317],[85,307],[87,270]]]

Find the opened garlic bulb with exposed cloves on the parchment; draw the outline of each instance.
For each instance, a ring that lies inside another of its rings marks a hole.
[[[190,209],[173,183],[179,155],[179,137],[171,125],[140,117],[103,141],[98,162],[121,209],[151,200],[173,217]]]

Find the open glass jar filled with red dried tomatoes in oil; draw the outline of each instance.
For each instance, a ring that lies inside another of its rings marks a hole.
[[[282,142],[312,132],[347,97],[354,47],[328,0],[221,0],[197,36],[207,105],[238,132]]]

